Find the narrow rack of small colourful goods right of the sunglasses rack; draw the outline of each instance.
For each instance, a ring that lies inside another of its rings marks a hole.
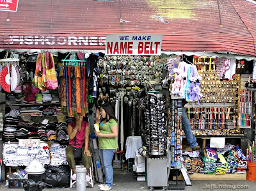
[[[182,162],[182,100],[171,100],[170,116],[171,167],[180,169]]]

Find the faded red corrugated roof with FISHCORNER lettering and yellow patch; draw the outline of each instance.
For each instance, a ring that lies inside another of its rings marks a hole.
[[[0,12],[0,47],[102,50],[106,34],[144,33],[163,34],[165,51],[256,56],[256,5],[248,1],[219,0],[223,27],[217,0],[121,2],[122,19],[131,22],[120,23],[118,1],[20,1],[16,13]]]

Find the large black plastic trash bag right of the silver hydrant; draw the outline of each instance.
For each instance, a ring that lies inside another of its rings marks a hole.
[[[47,186],[58,188],[68,188],[70,183],[69,167],[48,167],[42,177]]]

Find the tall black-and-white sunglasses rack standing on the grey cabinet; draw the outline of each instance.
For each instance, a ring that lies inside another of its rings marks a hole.
[[[163,93],[147,93],[145,105],[145,128],[148,154],[166,154],[166,98]]]

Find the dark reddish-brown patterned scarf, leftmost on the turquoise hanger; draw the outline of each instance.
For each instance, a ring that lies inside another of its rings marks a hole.
[[[60,70],[59,77],[61,78],[61,86],[60,86],[60,100],[61,100],[61,112],[65,115],[67,115],[67,84],[65,79],[65,69],[66,66],[62,66]]]

